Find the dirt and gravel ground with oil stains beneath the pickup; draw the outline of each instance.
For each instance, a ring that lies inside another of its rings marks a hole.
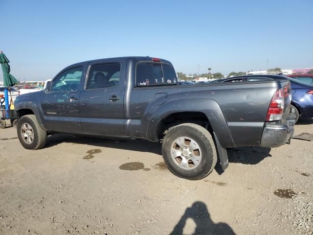
[[[295,134],[313,133],[313,119]],[[159,143],[48,137],[25,150],[0,130],[0,234],[313,234],[313,141],[228,150],[200,181],[174,176]]]

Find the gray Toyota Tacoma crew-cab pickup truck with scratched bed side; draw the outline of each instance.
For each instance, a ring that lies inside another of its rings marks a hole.
[[[14,103],[26,149],[54,133],[161,141],[169,170],[190,180],[225,169],[227,148],[289,142],[290,104],[288,80],[181,86],[169,61],[148,56],[68,66]]]

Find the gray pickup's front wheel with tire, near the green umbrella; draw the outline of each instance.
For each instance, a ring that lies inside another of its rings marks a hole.
[[[24,148],[35,150],[45,146],[47,133],[39,126],[35,115],[25,115],[20,118],[17,132]]]

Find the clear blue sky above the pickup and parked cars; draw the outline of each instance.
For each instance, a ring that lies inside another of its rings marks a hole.
[[[313,67],[313,0],[0,0],[0,9],[0,50],[21,81],[128,55],[186,74]]]

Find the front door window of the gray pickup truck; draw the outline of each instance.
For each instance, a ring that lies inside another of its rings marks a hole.
[[[84,67],[77,67],[62,72],[52,83],[51,92],[77,91]]]

